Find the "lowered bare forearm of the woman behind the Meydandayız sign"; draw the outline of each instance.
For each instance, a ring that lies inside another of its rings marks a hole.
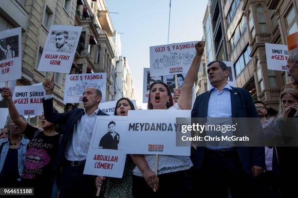
[[[147,182],[150,188],[155,188],[158,191],[159,180],[156,174],[150,169],[148,163],[146,162],[144,155],[139,154],[130,154],[134,164],[140,169],[145,181]]]

